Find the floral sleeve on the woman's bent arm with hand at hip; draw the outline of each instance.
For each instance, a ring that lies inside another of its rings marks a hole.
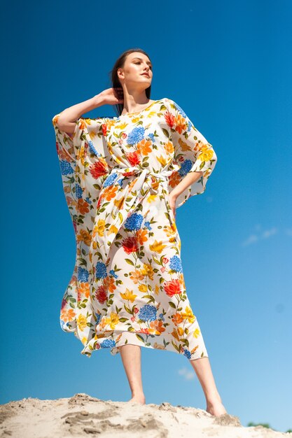
[[[174,164],[177,168],[169,185],[174,189],[190,172],[202,172],[202,176],[177,197],[176,207],[180,207],[190,197],[204,192],[216,166],[217,156],[213,146],[172,99],[167,99],[167,111],[167,123],[171,128],[174,146]]]

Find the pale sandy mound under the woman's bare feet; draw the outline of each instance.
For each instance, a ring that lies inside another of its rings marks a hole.
[[[135,404],[99,400],[87,394],[57,400],[22,400],[0,405],[1,438],[184,438],[292,437],[256,426],[245,428],[237,416],[214,417],[204,409],[172,404]]]

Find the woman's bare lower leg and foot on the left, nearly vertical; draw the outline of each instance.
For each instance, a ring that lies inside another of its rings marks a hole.
[[[145,404],[146,399],[143,392],[141,376],[141,347],[126,344],[120,346],[119,351],[132,392],[132,399],[129,401]]]

